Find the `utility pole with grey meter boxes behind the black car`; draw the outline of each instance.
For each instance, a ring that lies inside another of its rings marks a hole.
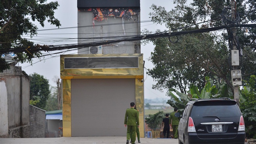
[[[232,21],[236,20],[236,3],[235,0],[231,0],[231,18]],[[233,70],[231,71],[231,77],[232,77],[232,85],[234,87],[234,100],[237,102],[237,105],[239,107],[239,86],[242,85],[242,74],[241,70],[239,70],[239,50],[237,50],[237,38],[236,38],[236,28],[231,28],[232,33],[232,50],[231,50],[231,58],[232,58],[232,66]]]

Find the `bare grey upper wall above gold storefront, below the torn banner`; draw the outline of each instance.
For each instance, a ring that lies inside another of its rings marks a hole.
[[[107,20],[94,21],[91,11],[78,11],[78,43],[89,43],[122,39],[123,36],[140,35],[140,16],[132,15],[132,19],[108,17]],[[114,25],[111,25],[114,24]],[[85,27],[88,26],[88,27]],[[102,39],[82,39],[88,37],[105,37]],[[115,37],[113,39],[106,37]],[[118,38],[120,37],[120,38]],[[140,42],[120,42],[102,46],[103,54],[140,53]],[[78,50],[78,54],[90,54],[89,47]]]

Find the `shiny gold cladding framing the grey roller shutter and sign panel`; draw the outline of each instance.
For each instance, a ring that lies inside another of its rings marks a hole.
[[[64,69],[64,58],[77,57],[138,57],[138,68],[103,68],[103,69]],[[88,78],[134,78],[135,80],[135,103],[139,110],[139,132],[144,137],[144,67],[143,54],[96,54],[96,55],[61,55],[60,77],[62,79],[63,96],[63,136],[71,137],[71,79]]]

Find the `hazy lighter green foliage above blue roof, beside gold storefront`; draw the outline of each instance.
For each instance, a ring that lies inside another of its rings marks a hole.
[[[46,101],[46,106],[44,110],[46,111],[59,110],[57,94],[58,94],[57,87],[51,86],[50,97]]]

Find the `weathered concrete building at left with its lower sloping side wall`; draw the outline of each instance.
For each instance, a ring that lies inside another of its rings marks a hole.
[[[29,104],[29,76],[15,63],[0,76],[0,137],[45,137],[45,110]]]

